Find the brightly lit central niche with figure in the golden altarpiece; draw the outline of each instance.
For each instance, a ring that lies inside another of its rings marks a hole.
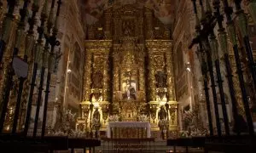
[[[126,79],[122,83],[123,99],[136,99],[136,82]]]

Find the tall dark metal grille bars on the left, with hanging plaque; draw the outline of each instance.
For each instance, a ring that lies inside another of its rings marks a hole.
[[[32,99],[33,93],[35,88],[35,82],[37,78],[37,71],[38,67],[41,67],[41,76],[40,76],[40,85],[38,88],[38,100],[37,100],[37,107],[36,107],[36,116],[35,116],[35,124],[34,124],[34,131],[33,136],[37,135],[38,130],[38,117],[41,105],[41,97],[43,92],[43,85],[44,85],[44,70],[48,70],[47,75],[47,83],[45,89],[45,99],[44,99],[44,116],[43,116],[43,127],[42,127],[42,137],[44,137],[45,133],[45,126],[46,126],[46,116],[47,116],[47,107],[48,107],[48,99],[49,99],[49,84],[50,84],[50,76],[53,72],[56,71],[59,60],[61,59],[61,50],[55,52],[55,47],[60,45],[60,42],[57,41],[57,33],[58,33],[58,24],[59,24],[59,17],[60,17],[60,8],[61,8],[61,0],[58,0],[58,8],[56,10],[56,18],[54,20],[54,7],[55,7],[55,0],[51,1],[51,8],[49,11],[49,20],[48,17],[48,6],[49,0],[44,1],[44,6],[41,12],[40,18],[40,26],[38,27],[38,40],[37,43],[34,45],[34,26],[36,26],[36,16],[39,10],[39,3],[38,0],[33,0],[32,2],[32,16],[26,20],[28,16],[28,6],[31,2],[30,0],[23,1],[23,7],[20,9],[20,19],[18,21],[17,27],[14,26],[12,22],[16,20],[15,18],[15,8],[19,8],[18,0],[7,0],[8,3],[8,13],[5,15],[2,25],[1,37],[0,37],[0,63],[1,68],[4,65],[4,76],[3,76],[3,97],[1,96],[1,116],[0,116],[0,133],[3,132],[3,125],[7,122],[7,113],[8,113],[8,105],[10,103],[10,94],[14,86],[13,78],[15,75],[19,78],[19,87],[18,93],[12,94],[12,96],[16,97],[15,103],[15,111],[14,111],[14,119],[13,119],[13,126],[12,126],[12,133],[16,133],[18,122],[21,122],[22,116],[20,117],[20,103],[22,98],[22,92],[24,88],[24,82],[26,81],[27,73],[28,73],[28,58],[33,59],[33,70],[32,70],[32,80],[30,86],[30,93],[27,102],[26,108],[26,120],[25,120],[25,127],[24,127],[24,135],[27,136],[29,124],[31,120],[31,111],[32,111]],[[1,11],[3,3],[0,1]],[[45,24],[47,24],[47,29],[45,31]],[[55,22],[55,23],[54,23]],[[26,30],[26,24],[29,25],[28,31]],[[12,30],[15,29],[15,38],[11,37]],[[52,32],[52,34],[51,34]],[[22,38],[25,37],[25,40],[22,41]],[[14,46],[11,46],[9,40],[14,41]],[[45,41],[44,41],[45,39]],[[24,44],[22,44],[24,42]],[[44,43],[45,42],[45,43]],[[6,46],[9,45],[12,49],[7,50]],[[22,46],[24,48],[23,57],[20,56],[20,51],[22,50]],[[50,49],[49,49],[50,46]],[[34,50],[32,53],[32,48]],[[4,63],[2,60],[4,58]],[[43,59],[43,60],[41,60]],[[22,69],[20,69],[20,65],[22,65]],[[21,71],[20,71],[21,70]],[[0,69],[0,71],[2,71]],[[14,109],[12,108],[12,110]],[[11,125],[10,125],[11,126]]]

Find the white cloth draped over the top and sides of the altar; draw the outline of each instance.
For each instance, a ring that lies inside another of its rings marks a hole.
[[[144,127],[147,129],[147,138],[151,137],[149,122],[108,122],[107,137],[111,138],[111,128],[113,127]]]

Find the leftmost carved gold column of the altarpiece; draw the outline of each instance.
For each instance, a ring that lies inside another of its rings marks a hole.
[[[83,92],[83,102],[90,101],[90,84],[91,84],[91,59],[92,53],[90,49],[86,50],[85,60],[84,60],[84,92]]]

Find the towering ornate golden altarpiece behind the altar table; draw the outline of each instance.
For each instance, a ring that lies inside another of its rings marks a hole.
[[[100,129],[106,130],[111,115],[136,122],[143,114],[150,116],[151,130],[160,129],[160,119],[177,130],[172,40],[151,9],[135,5],[105,9],[102,18],[88,27],[85,54],[77,128],[90,130],[96,118]]]

